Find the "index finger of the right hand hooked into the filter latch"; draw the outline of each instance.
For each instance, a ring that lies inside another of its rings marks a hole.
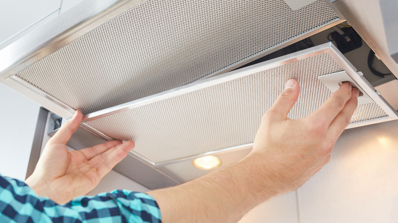
[[[344,82],[340,89],[332,94],[316,111],[310,114],[308,117],[313,119],[313,122],[319,122],[329,126],[340,111],[344,108],[345,103],[351,98],[351,84],[350,82]]]

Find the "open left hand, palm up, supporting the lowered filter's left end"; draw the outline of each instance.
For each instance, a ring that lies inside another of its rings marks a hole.
[[[25,182],[38,194],[57,203],[67,203],[91,191],[134,148],[134,142],[110,141],[77,151],[66,143],[82,121],[76,111],[47,142],[36,169]]]

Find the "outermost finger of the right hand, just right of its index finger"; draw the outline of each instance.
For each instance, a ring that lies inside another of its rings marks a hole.
[[[356,88],[352,89],[351,98],[345,103],[344,108],[336,116],[333,122],[329,126],[329,131],[337,138],[341,132],[350,124],[351,117],[354,114],[355,109],[358,106],[359,90]]]

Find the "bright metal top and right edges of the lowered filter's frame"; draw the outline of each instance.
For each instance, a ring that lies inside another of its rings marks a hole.
[[[338,49],[331,42],[329,42],[299,52],[291,53],[280,58],[272,59],[229,73],[207,78],[202,81],[191,83],[190,85],[186,85],[180,88],[172,89],[152,96],[127,102],[103,110],[95,111],[94,113],[85,115],[83,118],[83,122],[88,122],[109,115],[118,114],[129,109],[165,100],[171,97],[176,97],[182,94],[187,94],[189,92],[217,85],[218,83],[226,82],[262,70],[271,69],[273,67],[288,64],[294,61],[310,58],[314,55],[325,52],[329,53],[340,64],[340,66],[342,66],[346,73],[349,74],[354,79],[354,81],[356,81],[358,85],[363,88],[363,90],[369,95],[369,97],[373,99],[379,106],[381,106],[391,118],[398,118],[398,113],[384,100],[383,97],[376,93],[376,90],[370,85],[369,82],[367,82],[364,77],[358,75],[357,69],[346,58],[344,58],[343,54],[339,52]]]

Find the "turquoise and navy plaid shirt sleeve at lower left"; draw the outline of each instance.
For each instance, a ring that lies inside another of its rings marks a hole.
[[[24,182],[0,175],[0,222],[161,222],[145,193],[114,190],[60,205],[38,197]]]

